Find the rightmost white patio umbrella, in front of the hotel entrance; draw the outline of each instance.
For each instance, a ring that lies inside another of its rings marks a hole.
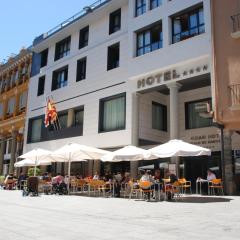
[[[151,148],[148,152],[150,153],[150,159],[154,156],[156,158],[168,158],[174,156],[191,157],[211,155],[210,149],[193,145],[178,139],[170,140],[167,143]]]

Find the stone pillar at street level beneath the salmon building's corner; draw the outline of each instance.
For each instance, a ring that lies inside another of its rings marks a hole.
[[[236,191],[233,179],[233,161],[232,161],[232,132],[224,131],[224,187],[227,195],[233,195]]]

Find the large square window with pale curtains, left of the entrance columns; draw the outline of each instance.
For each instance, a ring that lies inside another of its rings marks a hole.
[[[126,94],[100,100],[99,132],[125,129]]]

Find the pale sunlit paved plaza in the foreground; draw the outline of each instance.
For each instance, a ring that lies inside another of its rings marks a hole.
[[[240,197],[145,202],[0,190],[0,211],[1,240],[240,238]]]

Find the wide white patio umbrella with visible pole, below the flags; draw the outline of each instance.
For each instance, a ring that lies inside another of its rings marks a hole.
[[[86,160],[99,160],[103,155],[109,153],[108,151],[80,145],[77,143],[68,143],[51,154],[53,162],[68,162],[68,176],[70,179],[71,162],[81,162]],[[68,181],[68,191],[69,191]]]

